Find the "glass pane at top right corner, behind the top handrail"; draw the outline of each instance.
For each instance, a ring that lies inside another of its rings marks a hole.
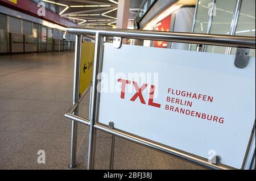
[[[255,37],[255,0],[242,1],[236,35]],[[232,48],[232,54],[236,54],[236,48]],[[250,56],[255,57],[255,49],[250,50]]]

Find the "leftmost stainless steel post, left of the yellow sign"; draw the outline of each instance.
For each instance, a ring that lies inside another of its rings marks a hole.
[[[82,37],[76,35],[76,47],[75,47],[75,67],[74,67],[74,82],[73,82],[73,105],[79,103],[79,88],[80,88],[80,64],[81,64],[81,47]],[[74,110],[74,115],[78,116],[79,108]],[[69,169],[76,167],[76,148],[77,148],[77,121],[71,122],[71,153]]]

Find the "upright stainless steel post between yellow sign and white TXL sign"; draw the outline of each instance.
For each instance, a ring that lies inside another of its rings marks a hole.
[[[93,62],[93,84],[90,100],[90,128],[89,128],[89,146],[88,146],[88,163],[87,169],[94,169],[94,158],[96,149],[96,129],[94,125],[97,123],[97,113],[98,113],[98,100],[99,94],[97,90],[98,80],[97,76],[100,71],[101,66],[101,54],[103,51],[103,37],[96,33],[95,38],[95,52],[94,52],[94,62]]]

